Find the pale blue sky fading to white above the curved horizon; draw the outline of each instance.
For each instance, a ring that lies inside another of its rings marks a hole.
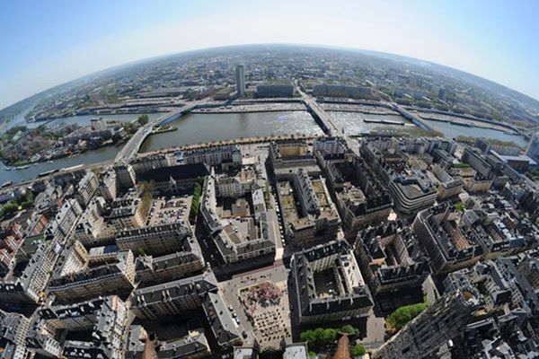
[[[2,0],[0,109],[110,66],[251,43],[416,57],[539,99],[537,13],[535,0]]]

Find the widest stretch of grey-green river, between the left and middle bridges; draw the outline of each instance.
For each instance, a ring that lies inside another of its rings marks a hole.
[[[176,131],[148,136],[141,152],[184,144],[199,144],[241,137],[323,135],[306,111],[249,113],[190,113],[170,123]]]

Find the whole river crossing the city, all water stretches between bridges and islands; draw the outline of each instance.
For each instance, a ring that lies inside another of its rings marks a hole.
[[[348,135],[355,133],[365,133],[376,127],[386,127],[385,124],[366,123],[365,118],[380,118],[390,120],[403,120],[396,115],[365,115],[355,112],[330,111],[331,118],[337,126],[345,128]],[[162,114],[148,114],[150,118],[159,117]],[[138,115],[109,115],[110,118],[120,121],[131,121]],[[58,126],[60,123],[78,123],[82,126],[90,123],[94,116],[75,116],[71,118],[59,118],[50,122],[48,126]],[[443,132],[447,137],[455,136],[485,136],[497,138],[504,141],[513,141],[519,145],[526,145],[526,139],[522,136],[508,135],[492,129],[477,127],[455,126],[444,122],[427,120],[429,125]],[[29,127],[39,126],[38,124],[26,124],[23,114],[14,118],[7,127],[0,129],[0,133],[5,128],[16,125],[29,125]],[[314,122],[314,119],[306,111],[284,111],[284,112],[252,112],[252,113],[224,113],[205,114],[191,113],[182,118],[178,118],[170,125],[178,127],[178,130],[166,132],[159,135],[149,136],[141,147],[141,152],[155,151],[160,148],[178,146],[183,144],[198,144],[209,141],[219,141],[240,137],[252,136],[272,136],[307,134],[322,135],[322,129]],[[408,124],[411,126],[411,124]],[[401,126],[395,126],[401,127]],[[52,163],[41,162],[31,165],[26,170],[6,171],[4,164],[0,162],[0,184],[11,180],[20,182],[31,180],[39,173],[75,166],[80,163],[95,163],[110,160],[116,156],[121,149],[119,146],[106,146],[87,153],[81,153],[73,157],[58,159]]]

